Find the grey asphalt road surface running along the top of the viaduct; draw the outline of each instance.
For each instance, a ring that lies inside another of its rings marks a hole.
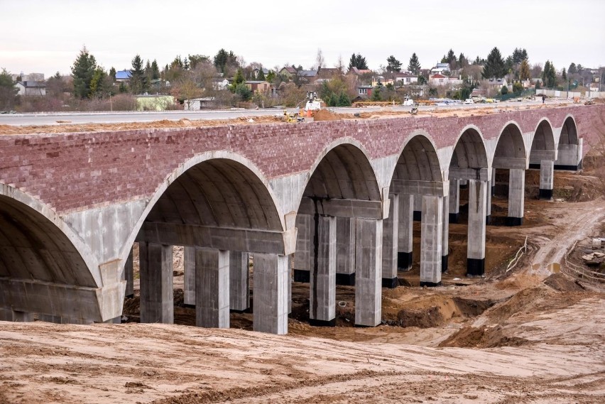
[[[474,104],[474,105],[454,105],[443,107],[420,107],[421,111],[434,109],[473,109],[505,106],[524,107],[527,105],[537,105],[539,102],[514,102],[502,104]],[[329,108],[332,111],[354,114],[357,112],[379,111],[381,107],[366,108]],[[391,111],[409,111],[410,107],[388,107]],[[295,112],[298,109],[288,108],[288,112]],[[220,111],[148,111],[148,112],[49,112],[39,114],[0,114],[0,125],[54,125],[57,121],[63,121],[62,124],[110,124],[124,122],[149,122],[168,119],[178,121],[179,119],[233,119],[240,116],[247,116],[254,119],[254,116],[281,115],[283,109],[239,109],[239,110],[220,110]]]

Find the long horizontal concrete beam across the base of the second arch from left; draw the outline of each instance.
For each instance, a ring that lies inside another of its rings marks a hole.
[[[288,255],[295,251],[296,229],[287,231],[145,222],[137,241],[170,246]]]

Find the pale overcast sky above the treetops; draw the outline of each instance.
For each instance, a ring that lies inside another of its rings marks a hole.
[[[430,4],[430,5],[429,5]],[[486,58],[528,51],[547,59],[605,65],[605,0],[458,1],[156,1],[0,0],[0,68],[13,73],[70,73],[82,46],[107,70],[131,66],[134,55],[160,67],[176,55],[233,50],[246,63],[272,68],[349,64],[361,53],[371,69],[389,55],[423,68],[452,48]]]

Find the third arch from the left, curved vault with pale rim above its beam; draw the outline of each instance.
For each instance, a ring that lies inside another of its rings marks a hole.
[[[324,148],[307,173],[304,189],[303,197],[382,200],[369,153],[352,138],[339,138]]]

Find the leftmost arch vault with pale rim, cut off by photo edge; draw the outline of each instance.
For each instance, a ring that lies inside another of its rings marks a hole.
[[[88,246],[59,215],[0,183],[0,278],[86,288],[103,286]]]

